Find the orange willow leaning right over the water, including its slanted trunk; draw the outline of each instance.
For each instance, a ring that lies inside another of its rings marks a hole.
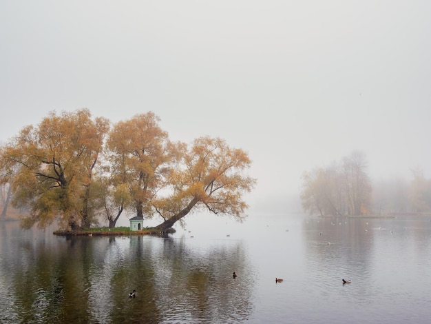
[[[243,194],[255,185],[255,179],[244,174],[251,165],[248,154],[218,138],[201,137],[189,147],[182,145],[180,164],[166,175],[170,190],[152,199],[164,220],[156,228],[165,232],[192,210],[229,214],[242,221],[248,207]]]

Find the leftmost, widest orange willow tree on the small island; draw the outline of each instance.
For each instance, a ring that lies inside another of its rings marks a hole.
[[[37,126],[29,125],[1,152],[9,171],[12,205],[28,207],[21,225],[88,227],[92,220],[90,189],[109,121],[92,119],[87,109],[50,112]]]

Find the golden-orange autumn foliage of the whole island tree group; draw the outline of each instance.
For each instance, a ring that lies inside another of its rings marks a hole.
[[[52,215],[70,226],[87,224],[102,207],[131,206],[138,216],[160,214],[170,226],[200,207],[241,219],[242,194],[255,185],[243,174],[248,154],[209,136],[172,143],[159,121],[147,112],[111,129],[84,109],[51,112],[37,127],[23,128],[0,157],[14,175],[16,205],[32,210],[25,224],[47,224]]]

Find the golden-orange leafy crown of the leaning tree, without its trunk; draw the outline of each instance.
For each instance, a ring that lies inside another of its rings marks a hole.
[[[242,174],[251,164],[246,152],[229,148],[222,139],[205,136],[193,141],[183,154],[184,167],[171,178],[176,181],[171,199],[183,201],[178,207],[185,208],[195,199],[196,206],[240,218],[247,207],[242,193],[255,185],[255,179]]]

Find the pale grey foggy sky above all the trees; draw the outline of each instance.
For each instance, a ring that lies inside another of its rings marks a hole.
[[[249,152],[257,199],[363,151],[431,176],[431,1],[0,1],[0,140],[48,112],[154,111]]]

